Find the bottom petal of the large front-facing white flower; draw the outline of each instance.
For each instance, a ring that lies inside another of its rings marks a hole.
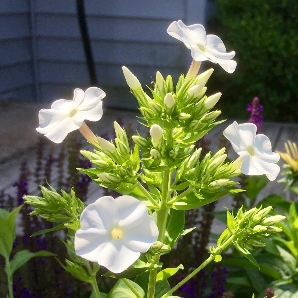
[[[141,255],[123,244],[121,239],[108,242],[98,255],[97,263],[114,273],[123,272],[131,266]]]

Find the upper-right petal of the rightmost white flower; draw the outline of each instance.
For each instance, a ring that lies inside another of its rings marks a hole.
[[[264,162],[278,162],[280,156],[278,153],[272,152],[271,142],[268,136],[257,134],[254,139],[255,155]]]

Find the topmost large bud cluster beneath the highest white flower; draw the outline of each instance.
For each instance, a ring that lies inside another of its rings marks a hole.
[[[154,88],[149,88],[153,99],[144,92],[134,74],[125,66],[122,69],[132,94],[138,100],[139,110],[143,115],[141,119],[148,123],[147,126],[158,124],[163,128],[172,128],[174,141],[177,139],[178,143],[191,145],[218,124],[214,121],[221,111],[210,110],[220,99],[221,93],[210,97],[205,95],[205,84],[213,69],[188,80],[181,75],[176,85],[176,93],[172,77],[167,76],[164,80],[161,73],[157,72]]]

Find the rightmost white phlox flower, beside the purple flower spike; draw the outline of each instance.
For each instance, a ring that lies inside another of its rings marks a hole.
[[[256,133],[255,124],[238,124],[236,121],[224,130],[224,136],[242,158],[241,172],[252,176],[265,174],[270,181],[273,181],[280,172],[280,167],[276,164],[280,156],[272,152],[271,142],[267,136]]]

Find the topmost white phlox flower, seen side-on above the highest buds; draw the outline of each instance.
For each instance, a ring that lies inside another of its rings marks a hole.
[[[167,33],[182,41],[190,49],[193,60],[209,60],[218,63],[228,73],[235,71],[237,63],[232,60],[235,52],[227,53],[221,38],[212,34],[207,35],[203,25],[186,26],[181,20],[174,21],[168,27]]]

